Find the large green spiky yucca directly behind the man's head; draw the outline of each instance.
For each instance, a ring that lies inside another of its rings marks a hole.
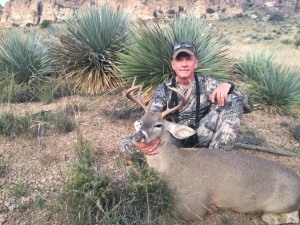
[[[194,16],[176,19],[171,24],[149,24],[138,20],[130,29],[132,42],[120,54],[122,78],[131,83],[144,83],[150,91],[171,78],[172,46],[175,42],[193,42],[198,50],[198,71],[215,78],[226,78],[226,50],[224,42],[211,33],[208,23]]]

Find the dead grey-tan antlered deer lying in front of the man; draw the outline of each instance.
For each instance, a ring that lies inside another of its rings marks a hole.
[[[171,135],[185,139],[197,131],[164,119],[182,107],[191,94],[191,88],[185,96],[176,88],[168,88],[181,101],[174,108],[167,106],[164,112],[150,112],[141,97],[142,85],[135,85],[135,80],[126,97],[144,109],[142,118],[134,123],[134,141],[155,146],[144,152],[146,162],[158,171],[159,178],[174,194],[179,216],[191,224],[222,208],[261,213],[267,224],[299,223],[300,177],[296,172],[247,153],[187,150],[174,144]],[[137,90],[137,96],[133,95]]]

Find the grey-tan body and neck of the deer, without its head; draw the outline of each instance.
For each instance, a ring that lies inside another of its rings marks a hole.
[[[163,127],[170,124],[163,121]],[[216,207],[241,213],[300,210],[300,178],[278,163],[237,152],[180,149],[165,129],[157,151],[146,156],[147,163],[174,191],[177,211],[187,220],[204,218]]]

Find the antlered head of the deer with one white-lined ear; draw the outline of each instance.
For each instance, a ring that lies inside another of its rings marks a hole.
[[[170,90],[175,91],[180,96],[181,101],[179,104],[173,108],[169,108],[169,104],[167,104],[167,109],[163,112],[150,112],[150,107],[147,107],[141,98],[142,85],[135,85],[135,80],[136,79],[134,79],[131,88],[126,91],[126,97],[142,106],[145,111],[144,116],[134,123],[134,127],[137,131],[137,133],[134,135],[136,142],[150,143],[157,138],[160,138],[163,130],[169,131],[178,139],[185,139],[196,133],[194,129],[188,126],[164,120],[165,116],[184,106],[192,92],[192,85],[190,85],[186,96],[184,96],[177,88],[168,87]],[[133,96],[132,93],[136,90],[138,90],[138,95]],[[149,103],[149,106],[150,104],[151,103]]]

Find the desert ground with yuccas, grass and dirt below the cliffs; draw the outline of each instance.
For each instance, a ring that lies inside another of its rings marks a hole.
[[[141,155],[118,153],[142,115],[123,90],[137,76],[147,99],[169,79],[174,42],[193,42],[199,72],[231,80],[253,99],[240,142],[299,154],[299,15],[257,15],[130,21],[103,6],[62,24],[1,30],[0,224],[183,223]],[[300,174],[297,157],[235,151]],[[201,224],[263,222],[220,210]]]

